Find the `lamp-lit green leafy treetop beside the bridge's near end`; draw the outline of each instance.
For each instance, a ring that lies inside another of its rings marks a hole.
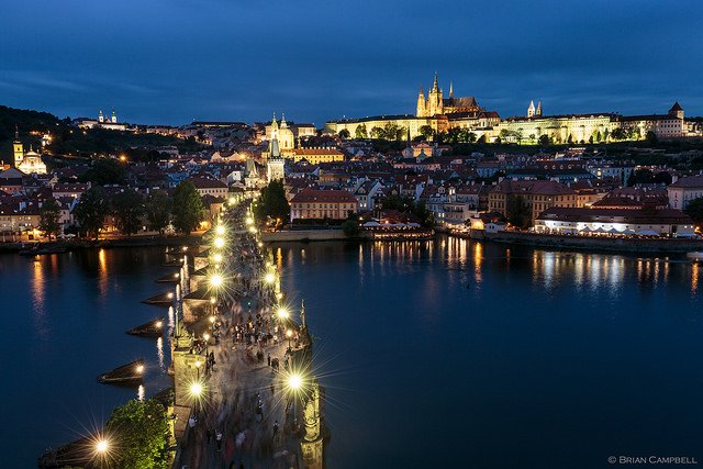
[[[154,399],[133,399],[112,411],[105,433],[119,450],[111,454],[114,467],[166,468],[168,418]]]

